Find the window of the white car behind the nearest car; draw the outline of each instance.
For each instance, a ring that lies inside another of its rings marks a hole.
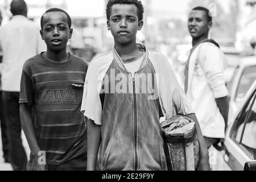
[[[245,97],[245,94],[250,89],[250,86],[253,85],[255,80],[256,65],[244,68],[240,81],[238,82],[235,101],[241,100],[243,97]]]

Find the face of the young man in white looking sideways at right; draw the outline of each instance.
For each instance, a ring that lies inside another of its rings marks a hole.
[[[205,11],[192,10],[188,17],[188,31],[193,39],[208,34],[212,22],[208,22]]]

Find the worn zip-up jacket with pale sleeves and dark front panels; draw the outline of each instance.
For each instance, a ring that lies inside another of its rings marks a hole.
[[[97,169],[167,170],[159,118],[193,113],[166,57],[145,51],[134,76],[115,49],[89,65],[81,111],[101,125]]]

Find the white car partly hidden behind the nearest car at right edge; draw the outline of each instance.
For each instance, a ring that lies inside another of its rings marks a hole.
[[[233,71],[233,77],[228,83],[229,91],[229,118],[236,113],[245,94],[256,80],[256,56],[241,57]]]

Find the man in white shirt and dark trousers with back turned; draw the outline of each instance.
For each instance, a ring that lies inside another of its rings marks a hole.
[[[10,144],[10,162],[14,170],[26,170],[27,156],[22,145],[19,118],[20,79],[24,62],[46,50],[40,38],[39,27],[27,18],[23,0],[11,2],[13,17],[0,28],[0,51],[3,52],[2,92],[3,107]]]

